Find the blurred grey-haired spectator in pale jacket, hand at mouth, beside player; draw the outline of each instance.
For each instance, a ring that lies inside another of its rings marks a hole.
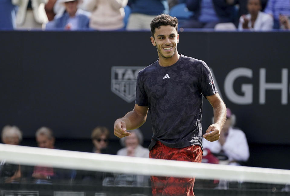
[[[118,150],[117,155],[149,158],[149,150],[142,147],[143,135],[139,129],[129,131],[131,135],[120,139],[124,148]]]

